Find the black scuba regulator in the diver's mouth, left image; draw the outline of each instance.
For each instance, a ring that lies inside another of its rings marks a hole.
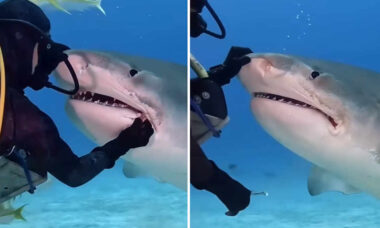
[[[64,51],[70,48],[44,38],[38,44],[38,64],[29,85],[34,90],[42,89],[49,81],[49,74],[58,64],[68,58]]]

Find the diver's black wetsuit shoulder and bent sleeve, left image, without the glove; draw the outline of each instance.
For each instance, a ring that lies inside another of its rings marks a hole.
[[[19,91],[7,88],[0,151],[9,151],[13,145],[27,152],[30,170],[41,176],[49,172],[72,187],[86,183],[114,163],[102,150],[76,156],[48,115]],[[9,158],[16,161],[12,156]]]

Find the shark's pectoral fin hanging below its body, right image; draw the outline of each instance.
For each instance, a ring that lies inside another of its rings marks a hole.
[[[313,166],[311,169],[307,187],[312,196],[329,191],[337,191],[347,195],[360,192],[339,177],[317,166]]]

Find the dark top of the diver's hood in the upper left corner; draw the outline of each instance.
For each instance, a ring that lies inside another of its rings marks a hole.
[[[50,34],[50,21],[44,12],[28,0],[5,0],[0,3],[0,23],[23,23],[46,36]]]

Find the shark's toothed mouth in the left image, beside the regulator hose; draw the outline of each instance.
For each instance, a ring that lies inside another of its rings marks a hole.
[[[120,100],[117,100],[113,97],[109,97],[109,96],[99,94],[99,93],[94,93],[94,92],[89,92],[89,91],[79,91],[78,93],[71,96],[70,98],[74,100],[90,102],[90,103],[109,106],[113,108],[126,108],[132,111],[135,111],[137,113],[141,113],[140,110],[137,110],[136,108],[133,108],[132,106]]]

